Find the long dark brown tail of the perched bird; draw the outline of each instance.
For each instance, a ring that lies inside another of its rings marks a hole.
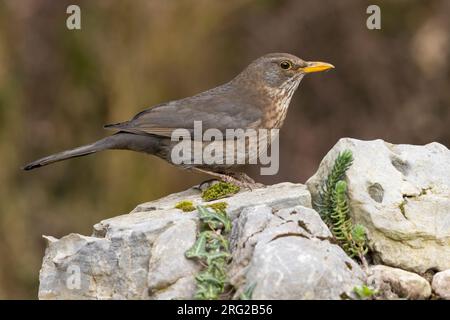
[[[139,136],[130,133],[117,133],[98,140],[92,144],[63,151],[51,156],[33,161],[23,167],[24,170],[32,170],[48,164],[71,158],[82,157],[107,149],[128,149],[140,152],[154,153],[157,140],[152,136]]]

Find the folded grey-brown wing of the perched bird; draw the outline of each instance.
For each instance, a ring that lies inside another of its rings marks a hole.
[[[194,97],[160,104],[138,113],[130,121],[107,125],[137,134],[170,137],[175,129],[194,129],[194,121],[202,122],[202,130],[256,128],[261,122],[260,108],[243,103],[242,99],[224,94],[200,94]]]

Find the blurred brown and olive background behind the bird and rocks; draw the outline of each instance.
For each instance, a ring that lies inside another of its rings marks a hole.
[[[66,8],[81,7],[81,30]],[[378,4],[382,29],[366,28]],[[450,1],[0,0],[0,298],[36,298],[42,234],[204,180],[161,160],[104,152],[20,166],[108,134],[105,123],[224,83],[268,52],[331,62],[308,76],[281,134],[281,169],[304,182],[343,136],[450,145]]]

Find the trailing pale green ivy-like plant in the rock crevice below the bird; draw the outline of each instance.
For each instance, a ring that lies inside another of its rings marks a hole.
[[[205,265],[195,277],[197,283],[195,298],[215,300],[224,292],[228,282],[226,267],[230,259],[230,250],[226,235],[231,230],[231,221],[226,212],[220,208],[212,210],[205,206],[197,206],[197,210],[200,233],[185,255],[189,259],[198,259]]]

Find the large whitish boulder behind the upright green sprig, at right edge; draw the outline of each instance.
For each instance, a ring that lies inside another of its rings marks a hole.
[[[307,182],[313,200],[345,149],[355,159],[347,172],[353,219],[367,228],[375,260],[418,273],[449,269],[450,151],[341,139]]]

